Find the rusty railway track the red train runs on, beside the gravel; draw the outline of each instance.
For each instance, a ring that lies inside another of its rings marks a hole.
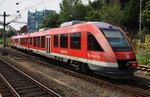
[[[48,65],[48,63],[45,63],[43,61],[39,61],[39,58],[36,58],[34,56],[33,57],[32,56],[28,56],[28,55],[23,55],[22,56],[22,55],[15,54],[15,53],[11,53],[11,54],[14,55],[14,56],[18,56],[20,59],[23,59],[23,60],[24,60],[23,56],[26,56],[28,58],[30,57],[30,60],[32,58],[32,60],[34,60],[34,62],[38,62],[40,64]],[[41,59],[41,60],[43,60],[43,59]],[[50,66],[50,65],[48,65],[48,66]],[[77,72],[74,72],[74,71],[70,71],[68,69],[64,70],[64,69],[62,69],[60,67],[56,67],[56,68],[58,68],[59,71],[61,70],[64,73],[67,73],[67,74],[70,74],[70,75],[73,75],[73,76],[76,76],[76,77],[79,77],[79,78],[83,78],[83,79],[85,79],[87,81],[92,81],[93,83],[97,83],[98,85],[108,85],[108,86],[111,86],[112,88],[116,88],[118,90],[122,90],[122,91],[124,91],[126,93],[129,93],[129,94],[135,96],[135,97],[139,97],[139,96],[140,97],[150,97],[149,91],[146,91],[146,90],[144,90],[142,88],[139,88],[139,87],[137,87],[137,88],[136,87],[132,87],[132,86],[130,87],[130,86],[123,85],[121,83],[116,83],[113,80],[112,80],[112,82],[110,82],[110,80],[109,81],[105,81],[105,80],[101,80],[101,79],[98,79],[98,78],[93,77],[93,76],[90,77],[88,75],[83,75],[83,74],[80,74],[80,73],[77,73]],[[148,88],[148,87],[145,87],[145,88]]]

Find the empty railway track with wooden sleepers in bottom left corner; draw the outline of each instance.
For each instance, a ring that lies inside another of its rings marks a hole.
[[[3,79],[1,82],[5,83],[1,91],[6,90],[2,93],[2,97],[7,93],[14,97],[61,97],[5,60],[0,59],[0,64],[0,74]]]

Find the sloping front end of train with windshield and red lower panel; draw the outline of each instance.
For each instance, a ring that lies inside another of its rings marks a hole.
[[[107,68],[106,73],[116,79],[133,78],[138,67],[136,55],[126,34],[119,28],[110,24],[103,24],[99,30],[106,38],[118,64],[115,68]],[[109,53],[107,51],[106,53]]]

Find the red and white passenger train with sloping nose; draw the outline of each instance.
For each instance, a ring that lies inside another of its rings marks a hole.
[[[11,37],[11,45],[112,78],[130,78],[138,63],[126,34],[103,22],[86,22]]]

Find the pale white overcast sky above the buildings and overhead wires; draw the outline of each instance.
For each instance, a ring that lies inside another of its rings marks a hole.
[[[6,17],[6,23],[14,19],[16,16],[21,14],[21,18],[17,21],[27,22],[27,13],[28,11],[35,12],[35,10],[41,11],[44,9],[55,10],[56,12],[60,11],[59,4],[62,0],[0,0],[0,21],[3,21],[1,15],[6,14],[10,15]],[[82,0],[84,3],[87,3],[88,0]],[[19,3],[16,5],[16,3]],[[19,11],[19,13],[17,13]],[[15,29],[19,30],[25,24],[21,23],[11,23]],[[2,28],[2,26],[0,26]]]

